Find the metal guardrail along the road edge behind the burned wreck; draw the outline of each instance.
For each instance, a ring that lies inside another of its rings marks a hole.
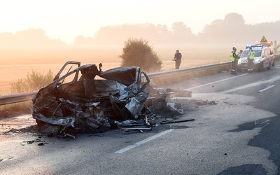
[[[275,54],[276,59],[280,59],[280,54]],[[178,69],[178,70],[171,70],[171,71],[160,71],[160,72],[155,72],[155,73],[148,73],[148,77],[150,79],[153,78],[160,78],[160,77],[165,77],[165,76],[174,76],[174,75],[179,75],[181,73],[189,73],[193,71],[200,71],[203,69],[213,69],[221,66],[229,66],[231,62],[222,62],[218,64],[208,64],[204,66],[196,66],[196,67],[191,67],[191,68],[186,68],[186,69]],[[25,92],[25,93],[20,93],[20,94],[11,94],[11,95],[6,95],[6,96],[1,96],[0,97],[0,106],[5,105],[5,104],[13,104],[13,103],[18,103],[18,102],[25,102],[31,100],[34,95],[38,91],[33,91],[33,92]]]

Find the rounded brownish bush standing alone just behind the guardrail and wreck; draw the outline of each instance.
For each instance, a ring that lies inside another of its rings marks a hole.
[[[146,72],[160,71],[162,61],[148,41],[144,39],[129,38],[125,41],[121,66],[139,66]]]

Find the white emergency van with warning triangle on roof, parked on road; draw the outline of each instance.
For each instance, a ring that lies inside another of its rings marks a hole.
[[[241,57],[238,59],[237,71],[248,70],[248,52],[249,48],[255,51],[255,57],[253,60],[254,71],[263,71],[263,69],[270,69],[271,66],[275,66],[275,57],[272,46],[258,45],[246,45],[246,49],[243,50]]]

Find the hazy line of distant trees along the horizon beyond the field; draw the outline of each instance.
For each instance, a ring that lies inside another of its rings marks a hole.
[[[76,36],[73,45],[123,45],[127,38],[144,38],[153,44],[190,43],[253,43],[265,36],[269,41],[280,40],[280,20],[246,25],[242,15],[229,13],[223,20],[214,20],[204,29],[193,34],[183,22],[174,22],[172,29],[167,25],[124,24],[102,27],[92,37]],[[45,35],[43,29],[27,29],[15,34],[0,33],[0,47],[64,47],[59,39]]]

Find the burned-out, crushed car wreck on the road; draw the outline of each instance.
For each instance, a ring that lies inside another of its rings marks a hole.
[[[172,94],[191,97],[190,91],[155,89],[149,83],[137,66],[102,71],[102,64],[97,68],[96,64],[66,62],[53,82],[33,97],[32,117],[38,125],[58,125],[59,132],[84,132],[118,127],[125,121],[151,127],[149,118],[163,109],[183,114],[168,102]]]

